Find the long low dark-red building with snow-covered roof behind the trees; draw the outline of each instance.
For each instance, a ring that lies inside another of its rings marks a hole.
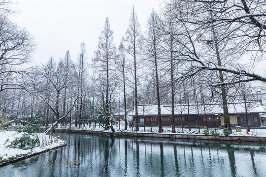
[[[205,110],[204,110],[205,107]],[[190,105],[189,110],[187,105],[175,105],[175,125],[188,126],[189,117],[191,126],[224,126],[224,116],[222,104],[205,104]],[[199,109],[199,114],[198,114]],[[234,103],[228,105],[230,122],[232,126],[245,126],[245,106],[244,103]],[[248,121],[251,126],[261,126],[260,113],[265,113],[264,108],[259,102],[256,102],[248,109]],[[161,106],[162,124],[163,126],[171,126],[171,106]],[[134,111],[129,111],[128,116],[135,119]],[[139,105],[138,106],[138,121],[139,125],[158,125],[158,107],[157,105]]]

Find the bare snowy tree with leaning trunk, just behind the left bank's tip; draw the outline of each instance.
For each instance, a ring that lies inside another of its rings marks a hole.
[[[50,63],[50,64],[49,64]],[[47,65],[42,65],[42,67],[36,69],[38,74],[38,82],[28,82],[27,86],[24,87],[30,94],[34,95],[35,97],[43,100],[45,104],[51,109],[53,114],[56,116],[55,122],[52,123],[51,127],[49,127],[45,133],[50,133],[57,124],[67,117],[69,112],[75,106],[75,102],[78,99],[76,90],[72,91],[67,89],[69,93],[69,97],[73,97],[74,104],[72,107],[63,115],[62,110],[60,109],[60,104],[62,102],[62,98],[64,98],[64,91],[65,88],[69,87],[65,84],[65,75],[62,72],[62,68],[60,66],[56,66],[56,63],[53,61],[53,58],[50,58]],[[35,77],[35,73],[29,75],[29,77]],[[34,80],[33,80],[34,81]],[[50,88],[43,87],[43,83],[45,82],[50,83]],[[72,81],[71,84],[76,84],[75,81]],[[48,89],[48,90],[47,90]],[[46,93],[49,92],[50,96],[47,97]],[[61,116],[62,115],[62,116]]]

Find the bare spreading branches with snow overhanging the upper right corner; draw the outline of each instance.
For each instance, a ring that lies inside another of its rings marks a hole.
[[[191,64],[184,74],[189,77],[203,70],[210,70],[232,75],[230,80],[220,81],[216,85],[255,80],[266,82],[265,76],[254,72],[258,61],[265,59],[265,6],[260,0],[168,0],[164,8],[165,14],[179,27],[175,40],[182,46],[182,50],[175,52],[183,56],[180,60]],[[191,13],[187,13],[188,8]],[[212,29],[216,32],[216,39],[207,39],[205,45],[202,45],[200,37],[206,36],[205,32]],[[227,59],[227,62],[231,61],[230,65],[220,65],[219,61],[213,62],[209,55],[204,55],[209,50],[206,44],[214,43],[217,46],[228,42],[230,43],[224,47],[234,54]],[[245,67],[245,63],[239,60],[243,54],[250,56],[247,62],[249,67]],[[242,76],[246,76],[246,79],[239,80]]]

